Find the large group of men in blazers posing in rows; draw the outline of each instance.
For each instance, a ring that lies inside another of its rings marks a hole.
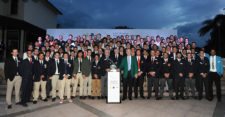
[[[47,35],[29,44],[22,58],[16,48],[11,54],[4,67],[9,109],[13,89],[15,103],[24,107],[28,102],[56,101],[57,97],[60,103],[65,98],[73,102],[75,97],[105,99],[111,65],[116,65],[121,73],[123,101],[150,99],[153,93],[160,100],[165,97],[165,89],[172,100],[205,97],[212,101],[213,82],[221,101],[221,57],[215,49],[207,54],[204,48],[197,48],[195,42],[189,43],[182,37],[83,35],[74,39],[69,35],[64,41]]]

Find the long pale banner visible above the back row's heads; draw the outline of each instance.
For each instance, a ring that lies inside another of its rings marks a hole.
[[[47,34],[53,36],[54,38],[59,38],[62,36],[64,40],[69,38],[72,34],[73,37],[82,37],[83,35],[97,35],[101,34],[101,37],[110,35],[112,38],[116,38],[121,35],[140,35],[141,37],[160,35],[161,37],[169,37],[170,35],[177,35],[177,30],[167,30],[167,29],[47,29]]]

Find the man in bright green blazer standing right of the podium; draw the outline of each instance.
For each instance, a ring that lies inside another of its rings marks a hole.
[[[131,50],[126,49],[127,56],[122,59],[120,64],[120,70],[123,71],[123,99],[127,99],[127,86],[128,86],[128,98],[132,100],[132,88],[134,79],[137,78],[138,66],[135,56],[131,56]]]

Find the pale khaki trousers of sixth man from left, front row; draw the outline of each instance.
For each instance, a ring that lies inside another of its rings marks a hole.
[[[78,83],[80,84],[79,96],[83,96],[84,79],[83,79],[82,73],[77,73],[76,77],[73,78],[73,92],[72,92],[72,96],[76,96]]]

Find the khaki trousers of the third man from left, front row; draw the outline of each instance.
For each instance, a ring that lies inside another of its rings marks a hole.
[[[40,93],[40,87],[41,87],[41,98],[42,100],[46,99],[46,81],[39,81],[39,82],[34,82],[34,91],[33,91],[33,97],[34,101],[38,100],[39,93]]]

